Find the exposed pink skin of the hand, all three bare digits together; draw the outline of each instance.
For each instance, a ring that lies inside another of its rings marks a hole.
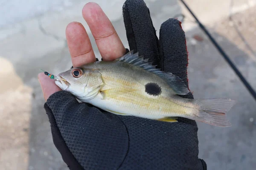
[[[96,40],[102,59],[113,60],[125,54],[125,47],[112,23],[96,3],[87,3],[82,15]],[[73,67],[96,61],[90,39],[81,23],[70,23],[66,28],[66,38]],[[38,80],[45,100],[55,92],[61,91],[54,80],[46,77],[44,73],[38,74]]]

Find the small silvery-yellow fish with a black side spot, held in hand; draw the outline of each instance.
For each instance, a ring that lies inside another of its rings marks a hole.
[[[182,80],[160,71],[133,51],[114,61],[96,61],[58,74],[55,84],[81,102],[110,113],[165,122],[177,117],[228,127],[226,113],[236,101],[186,99]]]

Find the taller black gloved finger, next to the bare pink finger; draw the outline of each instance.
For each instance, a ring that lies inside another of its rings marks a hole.
[[[149,58],[149,62],[158,65],[158,38],[151,21],[148,7],[143,0],[126,0],[123,6],[126,36],[130,50]]]

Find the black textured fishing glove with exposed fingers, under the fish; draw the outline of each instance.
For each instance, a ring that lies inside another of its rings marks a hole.
[[[187,85],[187,51],[180,22],[169,19],[160,28],[160,41],[143,0],[127,0],[123,16],[130,50],[176,74]],[[192,94],[184,96],[193,98]],[[120,116],[59,91],[44,105],[52,138],[72,170],[206,170],[198,159],[195,121],[161,122]]]

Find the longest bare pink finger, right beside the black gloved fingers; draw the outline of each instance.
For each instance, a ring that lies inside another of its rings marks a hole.
[[[125,54],[125,47],[116,30],[98,4],[87,3],[82,15],[96,40],[103,60],[113,60]]]

